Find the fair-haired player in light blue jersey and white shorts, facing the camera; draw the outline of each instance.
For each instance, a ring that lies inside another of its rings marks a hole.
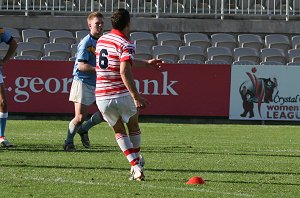
[[[80,134],[85,148],[90,147],[88,130],[99,124],[103,118],[98,111],[86,122],[88,107],[95,104],[96,86],[96,56],[95,49],[98,38],[103,34],[103,15],[92,12],[87,17],[90,33],[85,36],[77,47],[76,61],[73,69],[73,82],[69,100],[74,103],[75,117],[70,121],[68,133],[63,148],[65,151],[75,151],[74,136]]]

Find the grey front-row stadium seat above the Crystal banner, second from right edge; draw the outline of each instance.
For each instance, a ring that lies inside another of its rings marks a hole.
[[[278,48],[263,48],[261,49],[261,61],[277,61],[286,64],[287,58],[282,49]]]

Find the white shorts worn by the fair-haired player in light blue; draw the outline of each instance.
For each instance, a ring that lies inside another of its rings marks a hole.
[[[69,101],[90,106],[96,101],[95,88],[83,83],[81,80],[73,79]]]

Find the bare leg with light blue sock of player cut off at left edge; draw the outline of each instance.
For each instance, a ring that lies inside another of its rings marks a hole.
[[[13,146],[6,137],[5,137],[5,129],[6,129],[6,121],[8,117],[7,112],[7,103],[6,103],[6,95],[5,95],[5,86],[3,83],[2,75],[0,79],[0,143],[4,147]]]

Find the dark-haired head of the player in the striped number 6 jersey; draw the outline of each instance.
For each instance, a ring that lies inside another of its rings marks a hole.
[[[122,31],[130,23],[130,14],[124,9],[120,8],[113,12],[111,16],[111,25],[114,29]]]

